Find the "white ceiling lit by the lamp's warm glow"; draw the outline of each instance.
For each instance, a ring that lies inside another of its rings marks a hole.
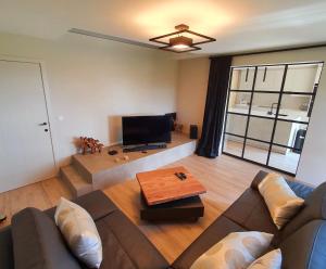
[[[217,54],[326,41],[325,0],[0,0],[0,31],[59,39],[71,28],[147,42],[180,23]]]

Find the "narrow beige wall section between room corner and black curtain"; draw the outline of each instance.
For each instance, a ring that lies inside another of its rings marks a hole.
[[[201,132],[208,91],[210,60],[205,57],[179,61],[177,117],[189,133],[189,125],[199,126]]]

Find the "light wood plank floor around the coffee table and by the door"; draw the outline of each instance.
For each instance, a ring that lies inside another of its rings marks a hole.
[[[104,190],[117,206],[151,240],[158,249],[173,261],[220,214],[225,210],[248,188],[260,166],[239,161],[226,155],[215,159],[196,155],[183,158],[167,167],[183,165],[208,189],[203,200],[206,214],[197,223],[171,223],[154,226],[139,220],[133,195],[138,188],[135,180],[126,185],[114,185]],[[124,193],[124,195],[120,195]],[[58,178],[0,194],[0,212],[8,215],[7,226],[13,214],[27,206],[46,209],[57,205],[60,196],[70,198],[70,193]],[[126,197],[126,198],[122,198]]]

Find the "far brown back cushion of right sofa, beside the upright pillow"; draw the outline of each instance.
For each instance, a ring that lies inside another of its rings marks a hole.
[[[284,239],[314,219],[326,219],[326,182],[311,192],[299,214],[273,239],[273,245],[277,246]]]

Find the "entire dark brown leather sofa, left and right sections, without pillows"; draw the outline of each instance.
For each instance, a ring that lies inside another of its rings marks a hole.
[[[289,182],[305,198],[300,213],[280,231],[274,226],[258,191],[265,177],[260,171],[251,187],[220,216],[172,265],[187,269],[211,246],[235,231],[264,231],[275,234],[271,248],[279,247],[283,268],[326,268],[326,183],[315,190]],[[100,191],[75,201],[86,208],[98,227],[103,244],[101,268],[160,269],[167,261],[147,238]],[[53,222],[55,208],[46,213],[27,208],[13,217],[12,226],[0,231],[0,268],[86,268],[68,252]]]

